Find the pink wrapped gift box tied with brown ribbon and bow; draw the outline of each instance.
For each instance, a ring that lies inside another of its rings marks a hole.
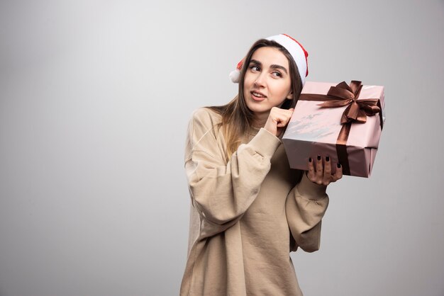
[[[384,86],[360,81],[307,81],[282,137],[293,169],[308,169],[309,157],[330,156],[343,174],[368,177],[384,125]]]

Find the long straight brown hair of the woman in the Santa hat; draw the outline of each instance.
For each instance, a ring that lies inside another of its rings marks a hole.
[[[245,135],[245,133],[250,130],[250,127],[252,127],[254,113],[248,108],[247,103],[245,103],[245,98],[243,96],[243,82],[251,57],[260,47],[276,47],[288,59],[293,98],[286,99],[281,108],[294,108],[299,95],[301,94],[301,76],[299,75],[296,62],[294,62],[292,55],[290,55],[290,53],[282,45],[275,41],[266,39],[257,40],[252,45],[245,56],[245,59],[243,60],[243,66],[242,69],[240,69],[238,96],[235,96],[235,98],[233,98],[233,100],[226,105],[206,107],[222,116],[222,122],[219,124],[219,127],[223,127],[223,135],[227,143],[225,155],[227,161],[231,159],[231,155],[233,155],[233,153],[238,149],[240,137]]]

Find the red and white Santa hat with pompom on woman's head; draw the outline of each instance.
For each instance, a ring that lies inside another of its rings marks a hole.
[[[302,85],[305,84],[305,77],[309,75],[309,67],[307,64],[307,57],[309,53],[306,52],[301,43],[297,42],[294,38],[287,34],[279,34],[265,38],[267,40],[273,40],[280,45],[282,45],[289,53],[292,55],[294,62],[299,70],[299,75],[301,76]],[[238,63],[235,71],[230,73],[230,79],[234,83],[239,82],[240,69],[242,69],[243,60]]]

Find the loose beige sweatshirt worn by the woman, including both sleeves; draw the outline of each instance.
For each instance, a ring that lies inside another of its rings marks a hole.
[[[192,207],[180,295],[302,295],[289,252],[318,249],[326,186],[289,169],[281,140],[263,128],[245,135],[227,163],[220,122],[201,108],[189,123]]]

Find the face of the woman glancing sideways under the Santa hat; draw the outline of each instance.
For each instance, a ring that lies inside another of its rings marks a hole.
[[[245,72],[243,96],[257,118],[267,118],[271,108],[292,98],[287,57],[276,47],[260,47]]]

